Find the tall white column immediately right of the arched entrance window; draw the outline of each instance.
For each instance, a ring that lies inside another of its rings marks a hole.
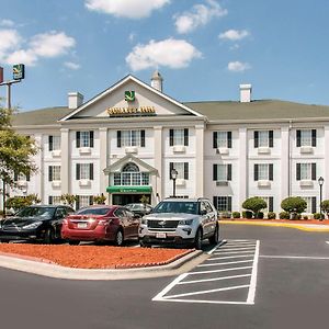
[[[156,184],[152,185],[155,190],[152,196],[155,200],[151,201],[152,204],[157,204],[158,201],[163,197],[163,185],[162,185],[162,126],[155,126],[155,167],[158,170],[158,175],[155,181]],[[154,181],[154,180],[152,180]],[[159,200],[157,200],[157,193],[159,195]]]

